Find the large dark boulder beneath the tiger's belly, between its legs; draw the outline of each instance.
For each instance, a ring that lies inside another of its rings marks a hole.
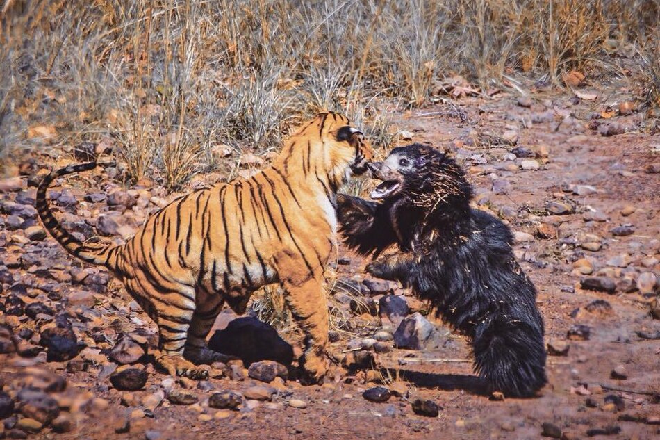
[[[217,330],[208,341],[208,348],[238,357],[245,365],[262,360],[290,365],[293,360],[291,345],[270,325],[251,316],[236,318],[225,329]]]

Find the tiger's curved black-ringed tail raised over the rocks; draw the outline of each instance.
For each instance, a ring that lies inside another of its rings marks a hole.
[[[60,168],[59,170],[51,172],[51,174],[48,174],[46,177],[44,177],[44,179],[41,181],[41,184],[39,184],[35,207],[39,213],[39,218],[41,219],[46,229],[48,229],[51,236],[53,236],[53,238],[55,238],[58,243],[60,243],[60,245],[62,245],[69,252],[69,254],[72,254],[73,256],[76,256],[88,263],[102,264],[106,266],[110,252],[115,247],[117,247],[117,245],[111,245],[108,243],[81,242],[69,231],[64,229],[62,225],[60,225],[60,222],[58,222],[58,220],[55,218],[55,215],[53,215],[53,211],[51,211],[48,199],[46,197],[46,191],[53,183],[53,180],[57,179],[58,177],[65,176],[66,174],[93,170],[96,167],[96,162],[88,162],[81,163],[80,165],[69,165],[65,168]]]

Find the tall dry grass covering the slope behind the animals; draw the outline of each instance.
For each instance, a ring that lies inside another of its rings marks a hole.
[[[659,102],[657,0],[15,0],[0,12],[0,161],[102,136],[127,178],[169,188],[209,148],[279,148],[315,111],[351,115],[382,147],[386,103],[423,106],[460,74],[482,88],[513,74],[606,70],[633,44]],[[614,57],[614,58],[613,58]],[[380,117],[380,120],[379,120]]]

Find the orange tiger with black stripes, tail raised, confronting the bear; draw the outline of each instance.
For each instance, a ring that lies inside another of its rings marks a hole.
[[[245,313],[254,291],[279,283],[305,336],[303,377],[326,370],[329,313],[324,268],[336,249],[336,194],[363,174],[374,150],[345,116],[319,113],[302,124],[269,166],[183,195],[150,215],[123,244],[81,242],[49,207],[58,177],[92,170],[69,165],[40,183],[35,206],[49,234],[73,256],[124,284],[158,327],[156,364],[172,376],[203,378],[220,359],[206,345],[226,303]]]

